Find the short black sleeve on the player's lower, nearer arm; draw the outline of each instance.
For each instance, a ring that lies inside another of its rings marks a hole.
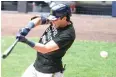
[[[69,34],[60,34],[53,40],[59,46],[59,48],[62,48],[73,41],[72,37]]]

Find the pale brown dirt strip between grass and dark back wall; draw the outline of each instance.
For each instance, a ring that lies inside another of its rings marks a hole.
[[[26,26],[31,17],[37,14],[1,12],[2,36],[15,36],[17,31]],[[110,16],[73,14],[77,40],[97,40],[116,42],[116,18]],[[28,36],[40,37],[48,25],[34,28]]]

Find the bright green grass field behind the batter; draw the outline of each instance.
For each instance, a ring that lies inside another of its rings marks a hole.
[[[38,38],[30,39],[38,41]],[[2,37],[2,52],[14,40],[14,37]],[[107,59],[99,55],[103,50],[109,53]],[[1,61],[2,77],[21,77],[35,58],[35,50],[18,43],[13,52]],[[63,62],[66,64],[64,77],[116,77],[116,43],[75,40],[63,57]]]

